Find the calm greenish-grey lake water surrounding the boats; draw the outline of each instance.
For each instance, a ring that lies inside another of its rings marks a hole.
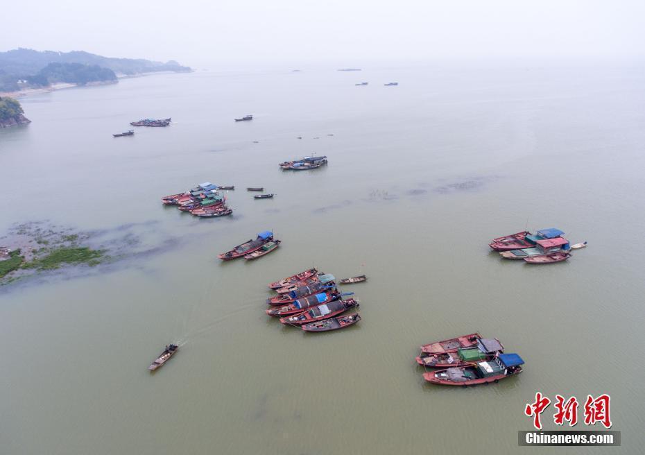
[[[609,393],[613,451],[641,453],[644,74],[198,72],[24,98],[33,123],[0,130],[0,232],[47,221],[132,254],[1,289],[0,452],[510,454],[540,391],[576,395],[579,419]],[[142,117],[173,124],[112,137]],[[329,165],[277,167],[310,154]],[[234,216],[162,207],[207,180],[235,185]],[[489,251],[527,226],[590,246],[551,266]],[[216,259],[267,229],[283,241],[271,255]],[[266,284],[312,265],[369,276],[343,288],[361,323],[304,334],[264,314]],[[419,346],[474,331],[521,354],[522,375],[425,384]]]

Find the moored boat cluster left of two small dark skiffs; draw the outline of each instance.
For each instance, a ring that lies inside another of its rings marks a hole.
[[[226,216],[233,210],[226,205],[226,198],[219,189],[234,189],[234,187],[218,187],[211,182],[198,186],[183,193],[171,194],[162,198],[164,205],[176,205],[182,212],[190,212],[200,218]]]

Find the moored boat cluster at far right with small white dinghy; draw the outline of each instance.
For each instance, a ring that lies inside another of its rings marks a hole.
[[[528,264],[553,264],[569,259],[571,250],[587,246],[586,241],[571,245],[564,235],[556,228],[542,229],[535,234],[522,231],[492,239],[488,246],[504,259],[523,259]]]

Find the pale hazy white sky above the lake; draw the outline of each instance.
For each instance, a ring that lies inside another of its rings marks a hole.
[[[645,0],[6,1],[0,50],[209,69],[645,55]]]

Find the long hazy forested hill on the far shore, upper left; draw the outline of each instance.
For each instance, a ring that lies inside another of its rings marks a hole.
[[[0,92],[46,87],[55,82],[87,84],[117,80],[117,74],[133,76],[157,71],[191,71],[173,60],[154,62],[111,58],[85,51],[53,52],[14,49],[0,52]]]

